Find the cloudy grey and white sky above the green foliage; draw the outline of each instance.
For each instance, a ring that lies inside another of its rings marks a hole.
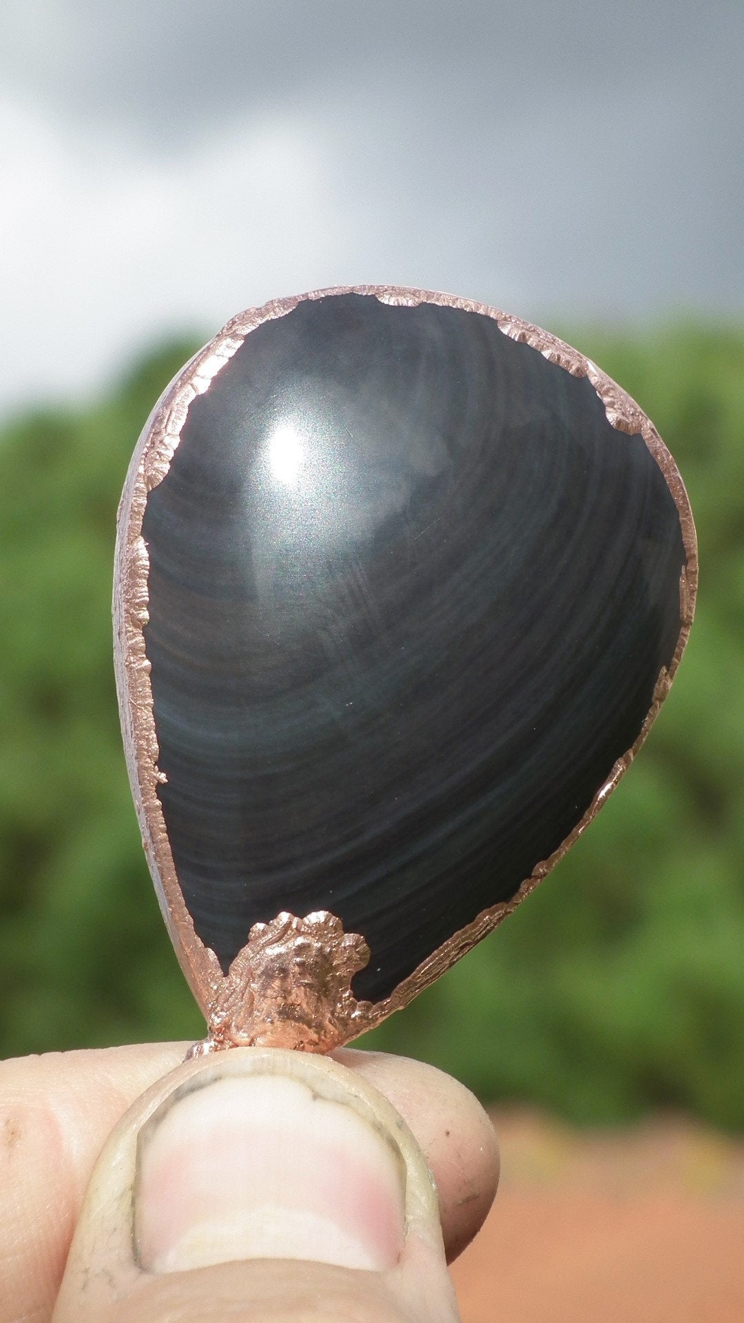
[[[23,0],[0,414],[346,283],[744,319],[740,0]]]

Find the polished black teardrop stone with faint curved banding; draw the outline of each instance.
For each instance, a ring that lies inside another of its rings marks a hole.
[[[678,511],[585,378],[357,294],[252,332],[148,496],[159,794],[196,931],[330,909],[379,1000],[506,900],[635,741]]]

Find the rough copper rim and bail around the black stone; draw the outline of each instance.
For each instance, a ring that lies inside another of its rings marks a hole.
[[[338,917],[328,912],[299,917],[282,912],[269,925],[254,925],[246,946],[226,975],[222,975],[214,951],[204,946],[197,937],[176,878],[158,798],[158,785],[164,782],[165,777],[158,767],[159,747],[152,710],[150,662],[143,632],[148,619],[150,565],[142,537],[147,495],[168,472],[192,400],[208,389],[245,337],[263,321],[286,316],[306,299],[339,294],[373,295],[381,303],[401,307],[433,303],[479,312],[492,318],[504,335],[531,345],[572,376],[588,377],[605,405],[612,426],[629,435],[639,433],[646,442],[674,497],[687,554],[687,565],[682,570],[679,583],[680,630],[676,648],[669,669],[662,668],[659,673],[651,706],[631,749],[617,759],[573,831],[549,859],[535,867],[510,901],[483,910],[471,923],[454,933],[433,951],[389,998],[376,1003],[356,1002],[351,992],[353,972],[369,958],[364,938],[359,934],[344,934]],[[207,1019],[209,1037],[201,1050],[233,1044],[261,1044],[330,1052],[371,1029],[393,1011],[408,1005],[418,992],[511,914],[586,830],[638,753],[669,693],[687,644],[696,590],[698,546],[692,511],[670,451],[651,421],[630,396],[589,359],[556,336],[470,299],[375,284],[338,286],[297,298],[274,299],[261,308],[250,308],[232,318],[222,331],[181,369],[144,426],[119,504],[114,576],[115,671],[127,769],[143,847],[160,908],[180,964]],[[278,970],[283,971],[279,983],[277,983]],[[293,971],[302,972],[302,979],[293,982]],[[293,987],[295,995],[289,995]],[[308,987],[311,987],[310,994],[307,994]],[[326,996],[323,990],[327,990]],[[277,1002],[277,995],[286,1000]]]

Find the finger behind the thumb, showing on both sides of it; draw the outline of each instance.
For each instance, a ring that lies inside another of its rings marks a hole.
[[[187,1048],[147,1044],[0,1064],[0,1323],[49,1323],[105,1140]],[[496,1188],[498,1148],[486,1114],[433,1066],[348,1049],[338,1056],[387,1094],[413,1130],[437,1181],[451,1261],[475,1234]]]

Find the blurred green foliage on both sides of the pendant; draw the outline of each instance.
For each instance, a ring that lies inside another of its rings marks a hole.
[[[691,643],[590,831],[368,1043],[580,1122],[674,1106],[744,1127],[744,333],[576,339],[680,464],[703,566]],[[110,626],[130,454],[193,349],[150,356],[95,407],[0,435],[3,1054],[204,1031],[144,865]]]

